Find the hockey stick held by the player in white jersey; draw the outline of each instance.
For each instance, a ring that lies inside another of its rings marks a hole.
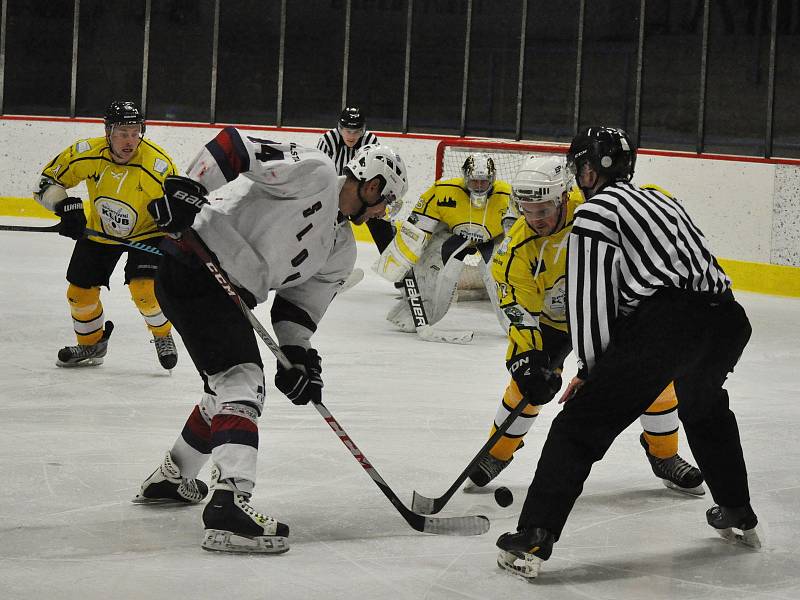
[[[275,358],[277,358],[281,365],[283,365],[285,368],[291,368],[292,364],[286,358],[286,355],[283,353],[280,346],[278,346],[269,332],[256,318],[247,304],[245,304],[241,296],[239,296],[239,293],[236,291],[233,285],[231,285],[230,281],[228,281],[228,278],[225,276],[222,270],[217,267],[213,257],[209,251],[206,250],[205,246],[200,242],[200,240],[197,239],[194,231],[187,229],[183,233],[181,239],[186,246],[191,249],[192,252],[194,252],[202,261],[211,275],[213,275],[214,279],[216,279],[220,287],[227,292],[228,297],[239,307],[239,309],[242,311],[242,314],[250,322],[253,330],[258,334],[264,344],[266,344],[267,348],[269,348],[270,351],[275,355]],[[312,404],[322,418],[325,419],[325,422],[333,430],[336,436],[342,441],[347,449],[350,450],[350,453],[353,455],[353,457],[364,468],[364,470],[367,472],[367,475],[372,478],[372,481],[375,482],[375,485],[380,488],[384,496],[389,499],[392,505],[397,509],[406,522],[411,525],[412,528],[425,533],[436,533],[443,535],[480,535],[489,531],[489,519],[483,515],[437,518],[427,517],[409,510],[403,504],[400,498],[397,497],[397,494],[392,491],[392,488],[389,487],[389,484],[387,484],[383,477],[380,476],[375,467],[372,466],[372,463],[370,463],[367,457],[364,456],[364,453],[359,450],[355,442],[350,439],[350,436],[348,436],[342,426],[339,425],[339,422],[333,417],[330,411],[328,411],[327,407],[322,402],[312,402]]]

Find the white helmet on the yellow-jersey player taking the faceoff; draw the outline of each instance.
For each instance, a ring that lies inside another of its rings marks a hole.
[[[564,157],[552,154],[526,158],[511,181],[511,197],[520,211],[534,219],[554,214],[572,187]],[[532,212],[533,211],[533,212]]]

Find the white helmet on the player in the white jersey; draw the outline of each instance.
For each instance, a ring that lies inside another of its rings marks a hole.
[[[408,191],[408,172],[403,159],[389,146],[367,144],[359,148],[355,156],[345,165],[353,177],[366,182],[373,177],[384,181],[379,202],[386,202],[390,217],[394,217],[403,205],[403,196]]]

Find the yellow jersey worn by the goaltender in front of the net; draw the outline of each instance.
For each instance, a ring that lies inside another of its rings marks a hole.
[[[502,220],[510,198],[511,186],[495,181],[486,205],[475,208],[462,177],[443,179],[420,196],[408,220],[428,234],[446,227],[476,244],[488,242],[503,235]]]

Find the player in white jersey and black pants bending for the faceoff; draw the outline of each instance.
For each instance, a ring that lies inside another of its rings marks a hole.
[[[402,159],[365,146],[338,176],[317,149],[223,129],[200,151],[188,177],[170,177],[151,203],[169,233],[196,236],[252,308],[275,291],[271,320],[291,369],[278,363],[275,385],[294,404],[322,398],[322,359],[311,336],[353,270],[356,244],[347,222],[382,215],[405,193]],[[206,190],[239,179],[211,204]],[[203,379],[204,393],[134,502],[200,502],[197,479],[211,458],[213,496],[203,511],[202,547],[279,553],[289,527],[249,504],[256,481],[264,373],[256,335],[211,272],[180,239],[163,244],[157,294]]]

